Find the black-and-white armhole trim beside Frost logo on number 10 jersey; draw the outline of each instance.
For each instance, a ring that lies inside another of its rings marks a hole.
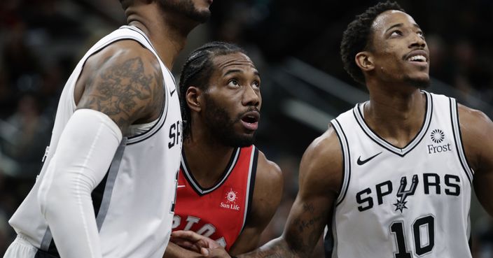
[[[449,98],[450,103],[450,120],[452,122],[452,134],[454,134],[455,149],[457,150],[457,156],[459,157],[459,162],[461,163],[464,173],[466,173],[467,179],[470,184],[473,182],[473,173],[469,169],[468,161],[466,157],[466,152],[464,151],[464,146],[462,145],[461,130],[459,124],[459,109],[457,108],[457,101],[455,99]]]

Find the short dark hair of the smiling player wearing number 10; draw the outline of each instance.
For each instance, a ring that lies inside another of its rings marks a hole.
[[[359,66],[356,65],[354,57],[358,52],[371,50],[373,45],[370,42],[371,25],[375,18],[387,10],[400,10],[405,12],[396,2],[386,1],[377,3],[365,10],[364,13],[356,15],[356,18],[347,25],[347,29],[342,34],[340,43],[340,55],[344,69],[356,82],[365,84],[365,76]]]

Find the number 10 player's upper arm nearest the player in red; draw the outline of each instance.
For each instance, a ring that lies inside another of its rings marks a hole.
[[[310,257],[326,224],[342,182],[342,151],[333,128],[305,151],[300,189],[289,213],[284,240],[300,257]]]

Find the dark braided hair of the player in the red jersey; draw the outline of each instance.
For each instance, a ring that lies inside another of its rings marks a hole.
[[[214,57],[229,55],[236,52],[241,52],[246,55],[246,52],[235,44],[214,41],[202,45],[202,47],[193,50],[193,52],[188,55],[186,62],[181,69],[179,84],[181,117],[183,119],[183,138],[190,136],[192,124],[190,108],[186,102],[186,91],[190,86],[206,90],[207,85],[209,85],[211,74],[215,69],[212,59]]]

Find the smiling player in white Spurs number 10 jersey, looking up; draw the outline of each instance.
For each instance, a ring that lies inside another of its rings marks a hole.
[[[370,100],[332,120],[305,152],[284,234],[237,257],[310,257],[326,225],[326,257],[471,257],[473,186],[493,215],[493,122],[422,90],[428,45],[396,3],[357,16],[341,54]]]

